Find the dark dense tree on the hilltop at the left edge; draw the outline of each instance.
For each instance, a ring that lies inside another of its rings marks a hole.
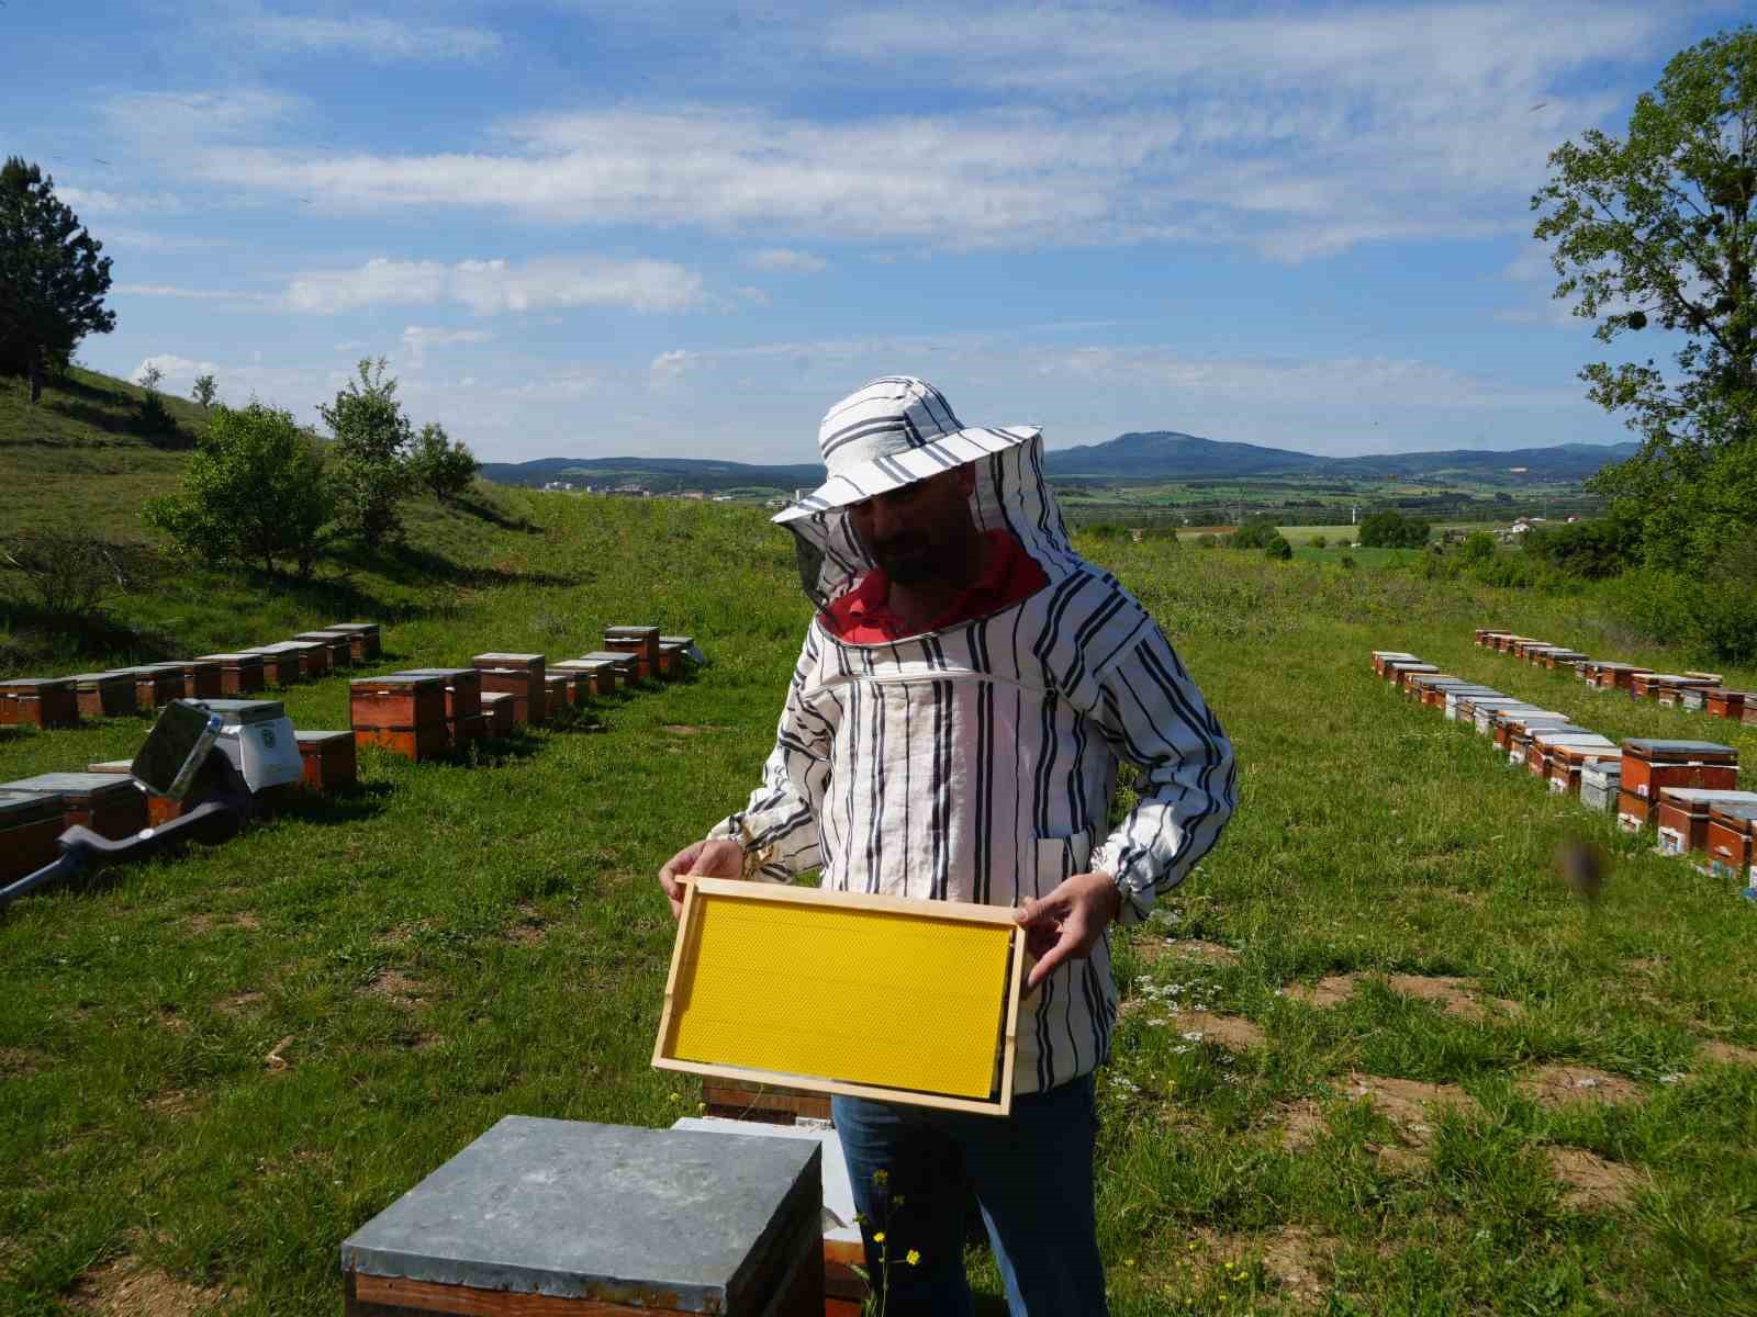
[[[54,195],[54,177],[9,156],[0,169],[0,369],[30,379],[65,369],[86,334],[109,334],[116,313],[104,309],[109,256],[79,216]]]

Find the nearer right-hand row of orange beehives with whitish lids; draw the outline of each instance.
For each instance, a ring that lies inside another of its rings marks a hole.
[[[1650,738],[1618,745],[1565,713],[1441,673],[1400,650],[1374,650],[1372,671],[1448,718],[1471,722],[1551,792],[1615,811],[1629,832],[1653,824],[1662,852],[1701,853],[1713,873],[1757,889],[1757,792],[1738,790],[1736,748]]]

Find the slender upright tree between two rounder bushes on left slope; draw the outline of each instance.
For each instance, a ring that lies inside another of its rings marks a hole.
[[[411,425],[397,402],[397,381],[385,358],[362,358],[358,376],[318,414],[334,443],[336,493],[348,530],[369,548],[402,534],[397,504],[409,492]]]

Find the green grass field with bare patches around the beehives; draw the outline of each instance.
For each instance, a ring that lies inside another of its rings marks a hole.
[[[0,1312],[339,1312],[337,1243],[501,1115],[696,1110],[648,1066],[671,945],[652,874],[770,748],[808,616],[791,544],[734,506],[416,513],[408,550],[346,579],[190,576],[116,615],[195,651],[381,615],[385,671],[560,658],[650,620],[712,666],[469,764],[367,755],[350,797],[0,917]],[[1753,762],[1757,729],[1471,643],[1506,625],[1683,662],[1571,601],[1307,551],[1088,550],[1172,634],[1240,764],[1221,845],[1119,957],[1112,1310],[1757,1313],[1757,908],[1413,708],[1367,650],[1608,736]],[[344,692],[285,699],[344,727]],[[0,729],[0,780],[144,729]],[[1578,839],[1609,857],[1595,904],[1551,871]],[[822,1006],[808,983],[799,1003]],[[993,1266],[970,1264],[994,1312]]]

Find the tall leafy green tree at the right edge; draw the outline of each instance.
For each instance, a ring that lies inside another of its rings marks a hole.
[[[1757,529],[1757,30],[1673,56],[1629,118],[1550,155],[1532,197],[1557,299],[1594,337],[1666,330],[1671,367],[1594,362],[1641,451],[1588,479],[1648,565],[1701,571]]]

